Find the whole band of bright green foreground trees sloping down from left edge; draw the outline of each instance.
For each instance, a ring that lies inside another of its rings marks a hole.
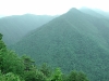
[[[28,56],[19,57],[7,49],[0,33],[0,81],[89,81],[84,72],[75,70],[63,75],[59,68],[50,70],[47,64],[37,68]]]

